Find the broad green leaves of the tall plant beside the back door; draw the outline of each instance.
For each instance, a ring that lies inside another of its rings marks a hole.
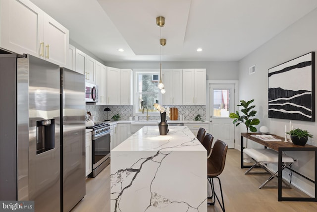
[[[247,133],[248,130],[250,129],[251,132],[257,132],[257,128],[254,127],[254,125],[258,125],[260,124],[260,120],[257,118],[252,118],[256,115],[257,111],[252,110],[253,108],[255,108],[255,105],[250,106],[250,104],[254,102],[254,99],[250,100],[250,101],[244,101],[244,100],[240,100],[240,107],[243,107],[243,109],[240,110],[240,112],[242,112],[244,115],[240,116],[239,111],[236,111],[236,113],[230,113],[229,117],[233,120],[233,124],[236,124],[236,127],[238,125],[240,125],[241,123],[246,125],[247,128]]]

